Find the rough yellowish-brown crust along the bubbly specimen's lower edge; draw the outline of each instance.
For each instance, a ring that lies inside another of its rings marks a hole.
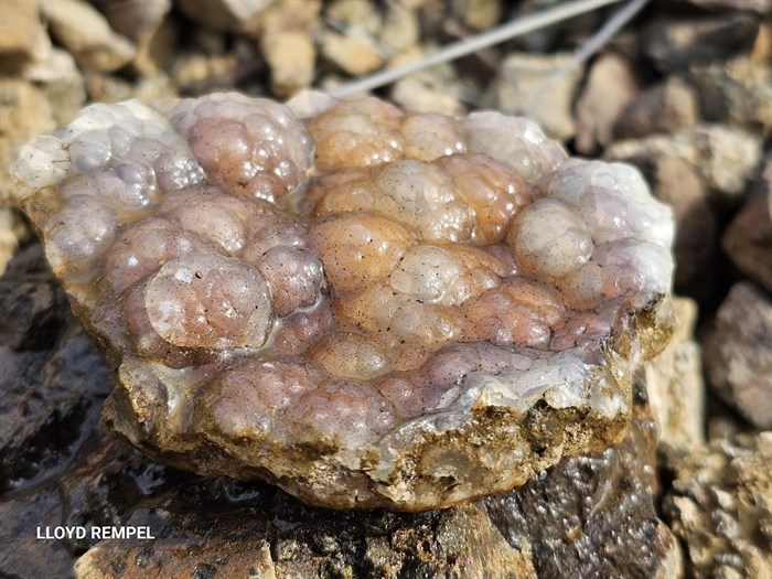
[[[658,353],[662,335],[669,337],[671,333],[669,308],[663,297],[644,312],[631,314],[630,325],[644,324],[644,340],[651,340],[648,324],[656,318],[657,340],[631,343],[625,337],[624,347]],[[141,364],[132,368],[130,362],[121,366],[119,376],[140,372],[146,377],[116,382],[104,420],[159,462],[184,470],[195,465],[193,470],[202,474],[266,480],[311,505],[441,508],[519,486],[562,457],[601,452],[616,444],[630,420],[635,364],[614,346],[610,337],[603,366],[582,368],[579,379],[560,376],[556,383],[528,392],[514,408],[507,405],[505,390],[512,385],[506,377],[480,377],[448,408],[401,425],[379,444],[357,449],[353,455],[349,449],[340,452],[329,440],[294,449],[266,446],[256,451],[249,440],[213,442],[185,436],[169,426],[170,395],[164,383],[148,376]],[[513,376],[512,382],[516,380]],[[557,393],[561,388],[580,394],[561,401],[565,393]],[[555,393],[554,397],[547,392]]]

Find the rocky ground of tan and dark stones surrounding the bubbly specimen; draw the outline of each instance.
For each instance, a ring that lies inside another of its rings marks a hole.
[[[639,165],[678,224],[678,329],[625,441],[505,495],[422,514],[311,508],[150,462],[99,428],[103,358],[25,222],[18,147],[88,101],[334,89],[553,0],[7,0],[0,4],[0,576],[772,577],[770,0],[616,7],[378,90],[412,109],[527,112]],[[147,525],[154,540],[36,538]]]

